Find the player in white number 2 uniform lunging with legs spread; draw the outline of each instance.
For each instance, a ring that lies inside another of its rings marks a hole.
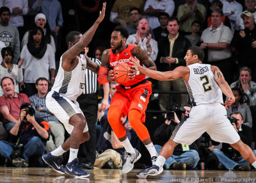
[[[164,162],[173,154],[173,149],[179,143],[190,145],[204,132],[207,132],[214,141],[229,143],[246,161],[256,167],[256,157],[252,149],[241,141],[227,118],[226,109],[235,102],[235,97],[220,69],[202,64],[204,51],[201,47],[190,47],[184,59],[187,67],[180,66],[172,71],[159,72],[143,68],[139,60],[131,58],[136,70],[154,79],[170,81],[182,77],[193,105],[189,118],[177,125],[172,137],[161,149],[156,163],[148,169],[139,171],[137,177],[146,179],[148,175],[156,176],[161,173]],[[221,91],[228,97],[225,103]]]

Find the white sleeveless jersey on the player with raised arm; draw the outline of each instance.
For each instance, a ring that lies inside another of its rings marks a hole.
[[[84,92],[86,60],[78,57],[78,64],[72,71],[66,71],[62,68],[62,56],[60,58],[60,67],[52,91],[65,95],[68,99],[75,101],[79,95]]]

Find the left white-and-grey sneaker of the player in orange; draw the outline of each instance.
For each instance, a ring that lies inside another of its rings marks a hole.
[[[140,159],[141,157],[140,152],[138,152],[136,148],[134,148],[134,150],[135,150],[134,154],[130,154],[128,152],[126,153],[126,161],[125,161],[125,164],[123,165],[122,173],[128,173],[129,171],[131,171],[132,168],[134,167],[134,163]]]

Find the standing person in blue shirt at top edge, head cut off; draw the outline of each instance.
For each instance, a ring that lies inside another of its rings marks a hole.
[[[43,13],[46,19],[49,21],[55,47],[57,48],[58,32],[63,24],[60,2],[58,0],[36,0],[32,8],[40,13]]]

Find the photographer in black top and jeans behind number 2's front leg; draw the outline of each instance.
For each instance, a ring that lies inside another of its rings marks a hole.
[[[191,106],[185,105],[184,107],[172,107],[170,113],[166,114],[166,120],[161,124],[154,132],[154,138],[156,139],[157,153],[161,151],[163,142],[168,141],[172,136],[177,124],[180,120],[186,121],[189,117]],[[165,169],[186,170],[195,168],[199,161],[198,147],[201,138],[197,139],[191,145],[177,145],[173,150],[173,155],[166,159],[164,163]]]

